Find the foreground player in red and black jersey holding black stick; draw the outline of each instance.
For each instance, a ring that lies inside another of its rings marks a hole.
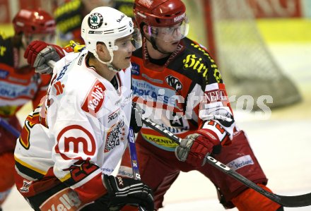
[[[131,57],[135,100],[146,117],[183,138],[178,146],[143,125],[136,139],[141,179],[153,189],[155,209],[163,207],[164,195],[180,171],[196,170],[213,182],[225,208],[281,211],[281,205],[204,164],[204,157],[213,155],[270,191],[247,136],[235,126],[218,66],[205,47],[185,37],[185,11],[180,0],[134,3],[143,35],[143,47]],[[124,154],[120,176],[133,176],[129,156]]]

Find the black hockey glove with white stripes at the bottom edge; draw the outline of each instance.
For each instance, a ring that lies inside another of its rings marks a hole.
[[[140,205],[147,211],[154,210],[151,188],[141,181],[104,174],[104,182],[110,198],[110,209],[124,205]]]

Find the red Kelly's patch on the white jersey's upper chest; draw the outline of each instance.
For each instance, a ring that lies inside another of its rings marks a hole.
[[[102,103],[104,102],[105,90],[105,86],[99,80],[96,80],[93,87],[90,88],[90,91],[88,92],[86,100],[84,100],[81,109],[95,116],[95,114],[100,110]]]

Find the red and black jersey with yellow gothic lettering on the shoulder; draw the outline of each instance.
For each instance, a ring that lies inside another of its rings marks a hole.
[[[204,47],[186,37],[164,65],[157,65],[148,58],[144,40],[131,62],[133,93],[146,117],[181,138],[199,128],[213,131],[221,141],[232,138],[235,123],[225,85]],[[175,143],[148,126],[141,134],[163,150],[175,150]]]

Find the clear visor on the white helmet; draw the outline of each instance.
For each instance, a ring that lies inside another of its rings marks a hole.
[[[134,32],[131,35],[115,40],[114,50],[128,51],[129,49],[133,49],[134,47],[135,51],[136,49],[139,49],[141,45],[142,45],[141,32],[139,31],[138,28],[134,28]]]

